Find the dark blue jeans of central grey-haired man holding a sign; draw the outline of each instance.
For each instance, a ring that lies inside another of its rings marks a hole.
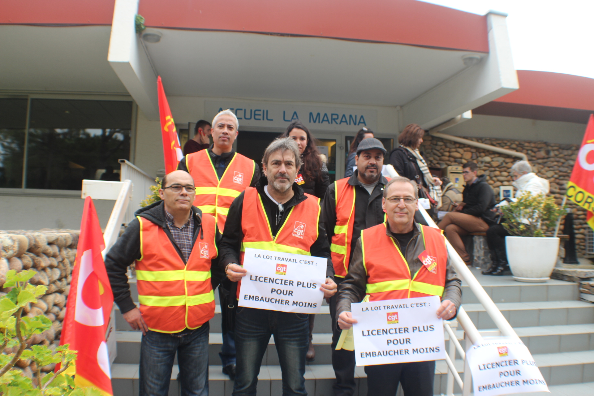
[[[309,346],[308,314],[240,306],[235,319],[237,360],[233,396],[255,396],[270,335],[274,335],[279,354],[283,396],[307,395],[304,374]]]

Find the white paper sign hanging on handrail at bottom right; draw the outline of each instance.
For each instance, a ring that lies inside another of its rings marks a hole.
[[[491,338],[466,352],[475,396],[549,392],[541,370],[520,340]]]

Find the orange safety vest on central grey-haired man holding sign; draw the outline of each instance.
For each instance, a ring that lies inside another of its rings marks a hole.
[[[305,194],[307,199],[293,206],[276,236],[272,236],[268,216],[262,197],[254,187],[244,192],[244,206],[241,214],[241,241],[239,259],[244,264],[245,248],[263,249],[273,252],[294,253],[311,256],[311,245],[318,239],[320,222],[320,198]],[[239,298],[239,287],[237,296]]]

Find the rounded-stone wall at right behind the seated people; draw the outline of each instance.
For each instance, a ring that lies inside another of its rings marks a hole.
[[[467,161],[476,162],[479,166],[478,174],[487,175],[488,183],[494,189],[497,201],[499,187],[511,185],[513,182],[510,168],[514,162],[520,160],[518,157],[505,156],[494,151],[432,136],[426,136],[423,139],[421,151],[424,151],[429,166],[444,168],[450,165],[460,166]],[[549,180],[551,194],[555,196],[557,204],[561,204],[579,145],[493,138],[466,139],[526,154],[536,175]],[[577,250],[584,254],[586,231],[589,228],[586,224],[586,211],[569,201],[567,205],[574,213]],[[563,224],[561,226],[563,227]]]

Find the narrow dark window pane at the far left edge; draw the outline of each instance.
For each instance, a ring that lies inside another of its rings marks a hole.
[[[0,187],[21,188],[27,99],[0,99]]]

